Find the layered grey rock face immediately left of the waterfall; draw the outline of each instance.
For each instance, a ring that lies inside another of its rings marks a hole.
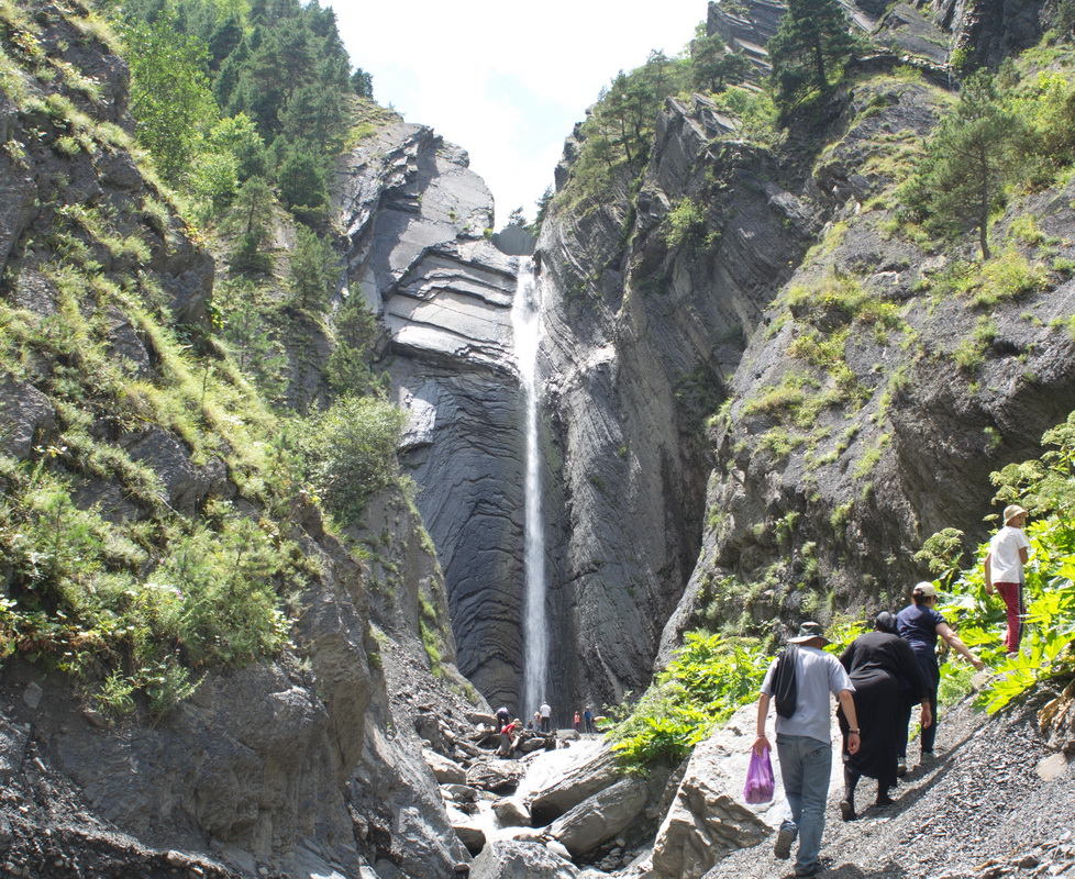
[[[399,123],[341,165],[351,294],[388,332],[410,412],[404,466],[437,547],[461,670],[518,704],[522,674],[522,400],[511,345],[518,258],[486,240],[492,198],[467,156]]]

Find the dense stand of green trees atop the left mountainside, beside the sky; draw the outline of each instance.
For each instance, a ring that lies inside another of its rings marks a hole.
[[[335,14],[299,0],[107,0],[129,53],[138,141],[164,179],[219,219],[262,177],[300,219],[320,222],[325,175],[354,108],[372,98]]]

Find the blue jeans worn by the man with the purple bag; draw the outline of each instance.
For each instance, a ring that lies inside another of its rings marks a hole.
[[[788,814],[780,825],[798,834],[796,872],[808,872],[818,863],[824,806],[832,776],[832,745],[805,735],[777,735],[776,753],[788,801]]]

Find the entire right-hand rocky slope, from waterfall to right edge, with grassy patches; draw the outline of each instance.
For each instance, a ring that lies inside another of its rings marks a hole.
[[[779,9],[745,5],[710,4],[710,32],[761,46]],[[1009,207],[998,241],[1044,274],[991,309],[953,294],[968,251],[893,219],[953,100],[937,47],[994,59],[1041,21],[875,7],[854,19],[895,51],[863,59],[785,143],[738,140],[741,121],[703,96],[669,99],[636,196],[622,179],[600,203],[554,202],[538,255],[567,499],[561,643],[587,696],[644,686],[686,627],[779,632],[896,601],[927,574],[912,554],[934,531],[984,536],[989,471],[1075,403],[1071,285],[1048,262],[1068,256],[1070,193]],[[577,137],[557,176],[568,196]],[[1029,212],[1048,254],[1012,226]]]

